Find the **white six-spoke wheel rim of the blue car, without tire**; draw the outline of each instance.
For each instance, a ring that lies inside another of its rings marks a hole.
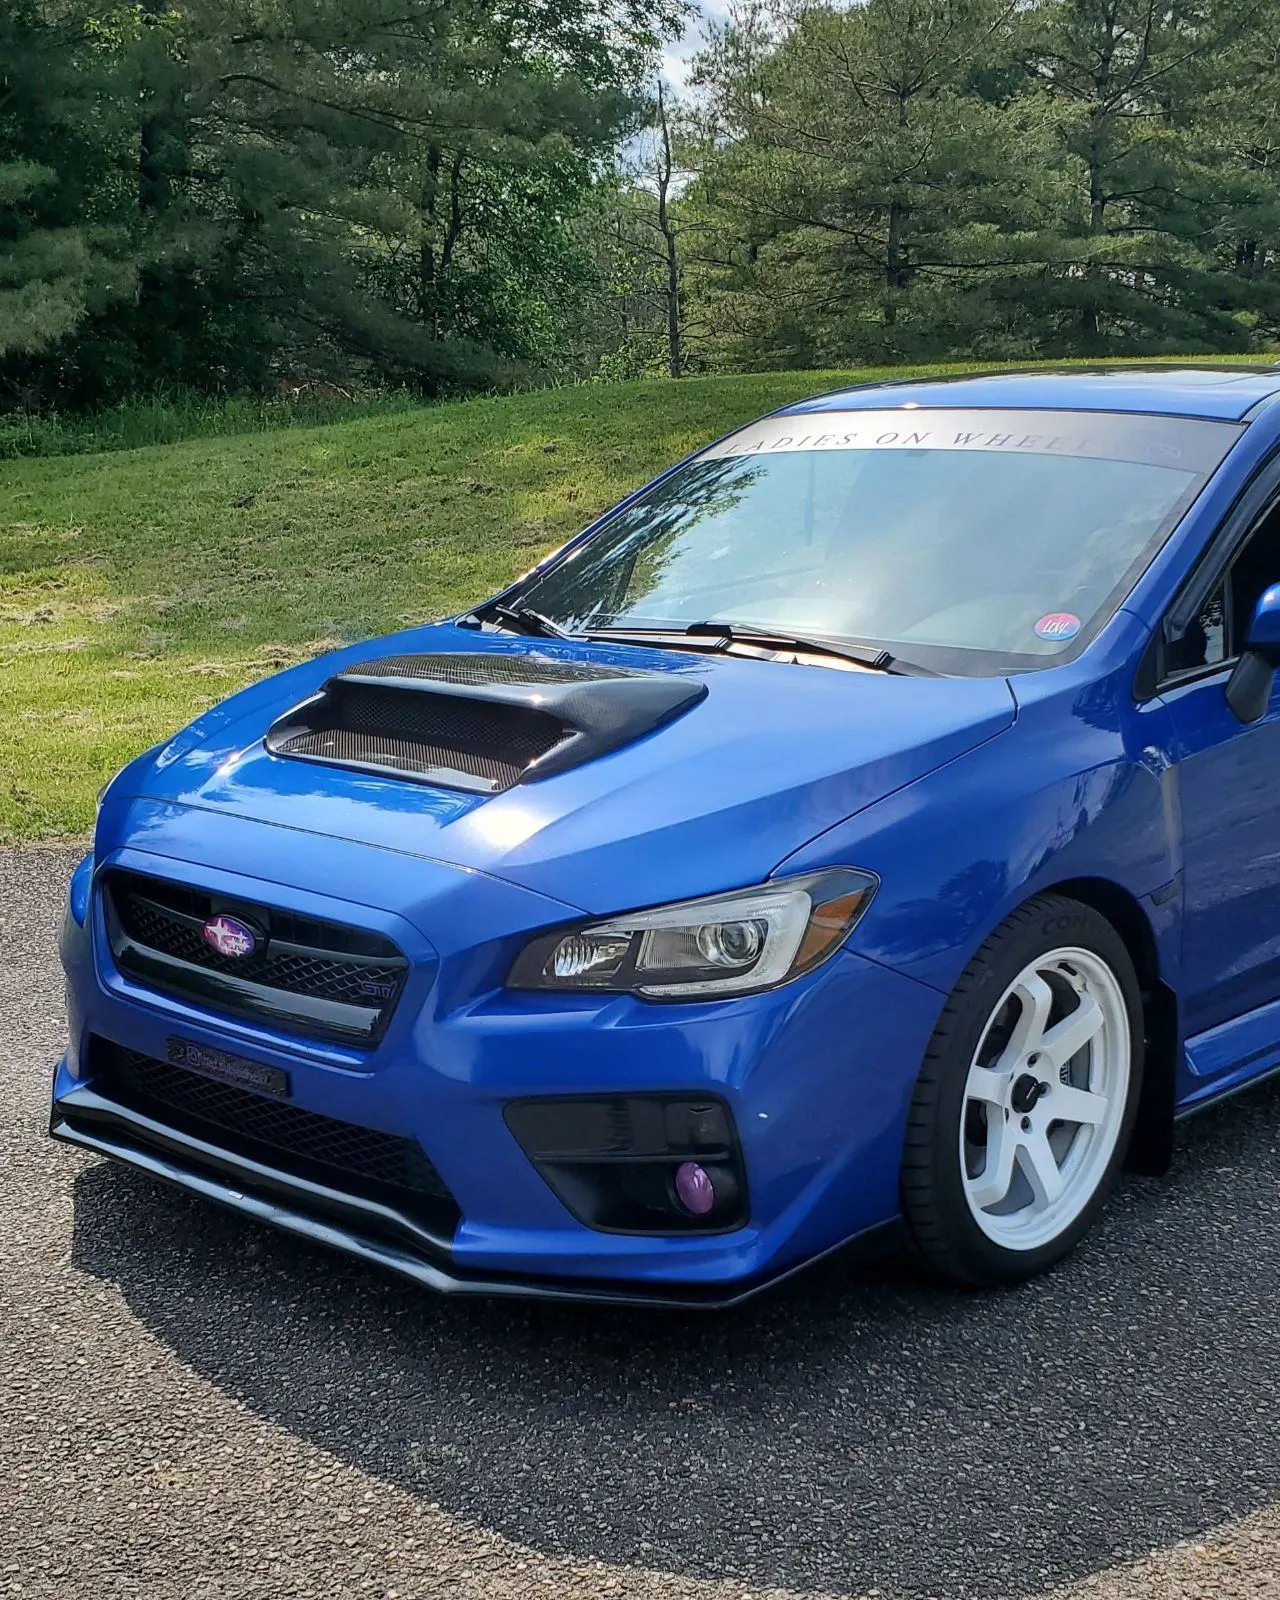
[[[1093,950],[1046,950],[1005,989],[970,1062],[958,1147],[992,1243],[1040,1250],[1090,1205],[1125,1125],[1130,1054],[1123,989]]]

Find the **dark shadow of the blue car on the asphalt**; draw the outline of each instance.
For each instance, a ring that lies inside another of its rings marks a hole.
[[[259,1416],[541,1552],[1016,1595],[1280,1493],[1278,1114],[1187,1123],[995,1296],[885,1267],[728,1314],[445,1301],[109,1165],[74,1261]]]

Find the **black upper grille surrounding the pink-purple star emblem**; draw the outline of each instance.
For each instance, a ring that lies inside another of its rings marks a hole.
[[[408,963],[400,950],[390,939],[362,928],[216,899],[202,890],[136,872],[107,874],[106,894],[123,931],[144,950],[157,950],[206,973],[262,984],[282,995],[376,1011],[376,1029],[389,1021],[405,979]],[[219,910],[254,925],[266,936],[262,947],[248,957],[219,955],[202,933],[205,922]],[[117,960],[123,971],[155,982],[154,974],[136,970],[128,946],[117,950]],[[203,998],[208,984],[194,979],[184,986],[182,974],[170,971],[165,989]],[[306,1016],[299,1016],[296,1026],[309,1030]]]

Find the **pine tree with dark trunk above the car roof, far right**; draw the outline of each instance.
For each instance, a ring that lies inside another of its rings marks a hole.
[[[1232,0],[1042,0],[1029,13],[1029,93],[1069,179],[1040,293],[1024,299],[1050,347],[1246,346],[1269,296],[1221,272],[1229,216],[1251,200],[1211,106],[1254,18]]]

